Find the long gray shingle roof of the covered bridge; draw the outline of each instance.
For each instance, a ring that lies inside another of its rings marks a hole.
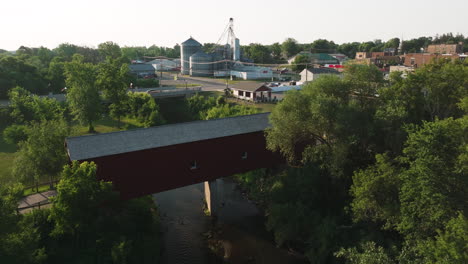
[[[195,121],[65,139],[71,160],[85,160],[263,131],[269,113]]]

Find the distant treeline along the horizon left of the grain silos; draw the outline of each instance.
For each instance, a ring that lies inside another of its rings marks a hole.
[[[107,56],[118,56],[119,63],[128,64],[131,60],[143,60],[145,56],[180,57],[180,47],[165,48],[123,47],[112,42],[98,45],[98,48],[82,47],[73,44],[60,44],[55,49],[45,47],[29,48],[21,46],[15,54],[0,52],[0,99],[6,99],[8,91],[21,86],[34,94],[60,93],[65,87],[65,64],[76,54],[85,63],[97,65]],[[129,81],[135,79],[129,76]],[[138,85],[141,87],[141,85]]]

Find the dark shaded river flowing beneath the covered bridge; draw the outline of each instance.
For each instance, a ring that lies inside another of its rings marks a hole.
[[[163,231],[162,263],[297,263],[265,230],[263,213],[230,178],[222,188],[216,221],[205,215],[204,185],[154,194]],[[215,223],[213,223],[215,222]],[[208,249],[208,244],[215,247]]]

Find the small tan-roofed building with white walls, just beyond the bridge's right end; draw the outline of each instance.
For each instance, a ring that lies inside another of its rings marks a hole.
[[[271,88],[263,83],[257,82],[239,82],[232,87],[232,95],[239,99],[253,102],[270,101]]]

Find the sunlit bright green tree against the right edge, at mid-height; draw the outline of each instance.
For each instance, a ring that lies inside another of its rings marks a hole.
[[[457,211],[468,206],[465,177],[468,155],[466,118],[425,122],[408,129],[400,175],[401,222],[398,230],[408,237],[433,236]]]

